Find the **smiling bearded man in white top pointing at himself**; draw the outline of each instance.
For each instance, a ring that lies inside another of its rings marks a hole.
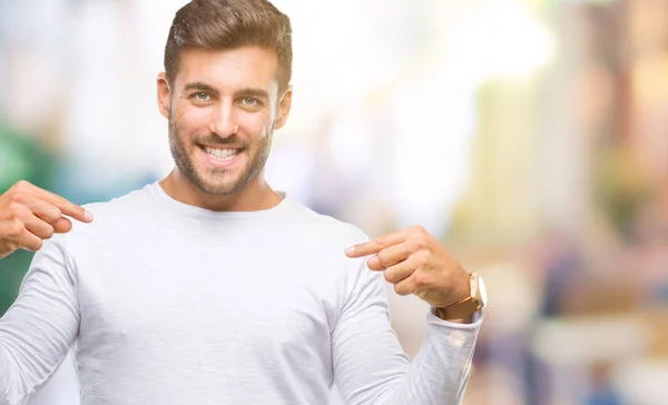
[[[325,404],[334,383],[346,404],[461,401],[478,278],[421,227],[367,241],[264,180],[291,36],[266,0],[188,3],[157,80],[167,178],[85,208],[24,181],[0,196],[0,257],[39,250],[0,320],[0,404],[72,346],[84,405]],[[383,278],[433,306],[412,364]]]

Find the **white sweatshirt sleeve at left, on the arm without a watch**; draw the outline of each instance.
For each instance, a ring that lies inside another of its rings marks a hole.
[[[58,369],[79,332],[77,280],[65,238],[46,240],[19,297],[0,318],[0,405],[26,404]]]

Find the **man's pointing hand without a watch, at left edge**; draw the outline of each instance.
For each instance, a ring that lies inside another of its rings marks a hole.
[[[21,180],[0,196],[0,258],[17,249],[37,251],[53,234],[72,229],[63,215],[90,223],[84,208]]]

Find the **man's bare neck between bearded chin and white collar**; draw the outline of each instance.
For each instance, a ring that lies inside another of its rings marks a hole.
[[[204,192],[177,168],[160,181],[160,187],[179,202],[212,211],[259,211],[273,208],[282,200],[282,197],[265,181],[263,174],[243,190],[232,195],[217,196]]]

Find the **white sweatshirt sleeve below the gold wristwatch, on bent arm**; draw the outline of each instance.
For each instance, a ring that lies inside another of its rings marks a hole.
[[[444,322],[431,313],[411,363],[390,324],[385,280],[365,263],[332,332],[334,381],[346,405],[461,404],[482,322]]]

